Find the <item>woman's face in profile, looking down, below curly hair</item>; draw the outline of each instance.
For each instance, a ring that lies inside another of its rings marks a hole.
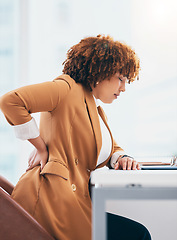
[[[105,79],[99,82],[92,89],[93,95],[103,103],[112,103],[121,92],[125,92],[126,81],[126,77],[123,77],[120,73],[116,73],[109,80]]]

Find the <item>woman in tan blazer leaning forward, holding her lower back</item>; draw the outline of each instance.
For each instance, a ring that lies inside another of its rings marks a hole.
[[[105,165],[140,168],[115,143],[97,106],[98,99],[115,100],[138,73],[139,60],[129,46],[98,35],[70,48],[63,75],[54,81],[22,87],[1,98],[16,136],[35,147],[12,197],[55,239],[91,239],[88,182],[93,170]],[[30,115],[34,112],[41,112],[40,131]],[[135,225],[135,239],[150,239],[145,228],[138,235]]]

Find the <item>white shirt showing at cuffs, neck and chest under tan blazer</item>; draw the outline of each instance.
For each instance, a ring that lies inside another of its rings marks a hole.
[[[94,97],[94,100],[98,107],[100,105],[99,100],[96,99],[95,97]],[[101,147],[100,154],[98,156],[97,166],[102,162],[104,162],[109,157],[112,149],[112,141],[111,141],[109,130],[104,124],[100,115],[99,115],[99,120],[100,120],[100,128],[102,133],[102,147]],[[16,137],[20,138],[21,140],[37,138],[40,135],[39,128],[33,117],[29,122],[15,125],[13,126],[13,128],[14,128]],[[110,165],[112,168],[114,168],[115,162],[117,161],[118,157],[123,154],[125,154],[123,151],[119,151],[112,155],[112,158],[110,161]]]

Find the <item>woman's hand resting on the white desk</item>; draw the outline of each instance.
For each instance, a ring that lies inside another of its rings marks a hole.
[[[120,156],[114,165],[115,170],[140,170],[140,164],[129,156]]]

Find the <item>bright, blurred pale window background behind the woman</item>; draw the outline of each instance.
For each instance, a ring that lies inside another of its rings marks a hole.
[[[176,13],[175,0],[0,0],[0,96],[52,81],[72,45],[109,34],[141,60],[140,80],[103,105],[114,138],[137,160],[170,161],[177,154]],[[32,149],[0,112],[0,174],[15,184]]]

